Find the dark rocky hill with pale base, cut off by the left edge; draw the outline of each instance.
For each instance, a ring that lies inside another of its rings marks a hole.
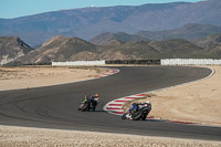
[[[9,63],[32,51],[18,36],[0,36],[0,65]]]

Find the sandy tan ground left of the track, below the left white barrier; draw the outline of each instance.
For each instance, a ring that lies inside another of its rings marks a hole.
[[[31,88],[85,81],[108,72],[95,67],[23,66],[0,67],[0,91]]]

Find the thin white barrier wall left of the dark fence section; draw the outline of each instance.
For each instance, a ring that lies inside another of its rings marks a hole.
[[[71,65],[105,65],[105,61],[52,62],[52,66],[71,66]]]

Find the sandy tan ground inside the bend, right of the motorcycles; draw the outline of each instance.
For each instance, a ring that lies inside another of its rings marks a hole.
[[[215,71],[209,78],[156,91],[136,102],[150,101],[149,116],[155,118],[221,126],[221,66],[209,67]]]

